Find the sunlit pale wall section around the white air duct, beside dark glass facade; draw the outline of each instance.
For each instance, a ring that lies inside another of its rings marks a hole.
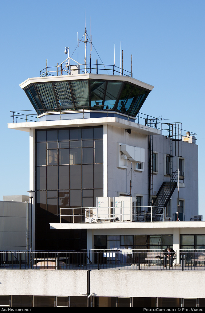
[[[131,161],[127,162],[127,169],[117,167],[119,157],[117,143],[145,149],[144,171],[134,171],[135,174],[132,173],[132,194],[143,194],[144,205],[147,205],[148,136],[137,133],[136,131],[132,131],[131,134],[128,134],[124,128],[114,126],[108,126],[108,197],[116,197],[119,196],[120,193],[129,194],[130,192]],[[134,169],[134,162],[132,163]]]

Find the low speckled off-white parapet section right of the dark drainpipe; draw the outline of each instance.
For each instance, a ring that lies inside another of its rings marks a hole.
[[[204,298],[205,271],[95,270],[90,292],[96,296]]]

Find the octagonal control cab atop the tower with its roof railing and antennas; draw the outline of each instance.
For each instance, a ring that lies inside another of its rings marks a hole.
[[[85,51],[87,36],[85,29]],[[98,64],[98,60],[96,64],[79,64],[70,58],[68,47],[65,53],[68,58],[57,67],[46,66],[40,77],[20,85],[38,121],[119,115],[135,120],[153,86],[132,78],[131,72],[115,65]]]

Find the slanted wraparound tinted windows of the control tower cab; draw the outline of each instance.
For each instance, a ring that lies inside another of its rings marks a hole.
[[[59,110],[114,110],[136,116],[150,90],[122,81],[35,83],[24,89],[38,114]]]

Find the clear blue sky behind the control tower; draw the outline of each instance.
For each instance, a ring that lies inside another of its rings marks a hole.
[[[65,59],[65,46],[74,51],[77,32],[85,28],[104,64],[120,66],[120,41],[124,69],[155,88],[142,113],[182,122],[197,133],[199,146],[199,214],[203,203],[205,167],[204,131],[204,12],[205,1],[7,1],[1,3],[1,181],[3,195],[29,190],[29,136],[7,129],[12,110],[33,109],[19,87],[38,77],[46,65]],[[77,59],[77,54],[74,54]],[[99,59],[94,49],[92,61]],[[79,61],[83,62],[83,48]]]

